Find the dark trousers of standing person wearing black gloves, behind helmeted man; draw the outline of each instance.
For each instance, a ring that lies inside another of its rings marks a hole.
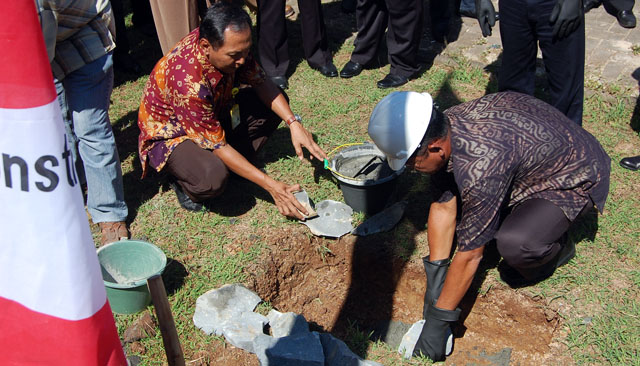
[[[584,19],[567,38],[552,38],[549,23],[556,0],[500,0],[502,67],[499,91],[533,95],[538,42],[549,80],[550,104],[582,125]]]

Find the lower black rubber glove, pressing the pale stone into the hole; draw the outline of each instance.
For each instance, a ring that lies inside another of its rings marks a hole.
[[[435,305],[429,306],[422,332],[413,348],[413,355],[423,354],[433,361],[444,361],[445,357],[451,353],[453,345],[449,322],[458,320],[459,316],[460,309],[443,310]],[[451,339],[451,346],[447,347],[449,339]]]

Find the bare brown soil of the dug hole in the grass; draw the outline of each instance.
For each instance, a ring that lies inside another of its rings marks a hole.
[[[391,244],[378,236],[329,241],[302,230],[279,232],[276,246],[250,270],[250,286],[274,308],[302,314],[312,330],[342,339],[354,325],[372,330],[388,320],[413,323],[422,317],[421,263],[394,257]],[[573,363],[554,342],[559,320],[542,301],[499,283],[477,294],[472,289],[461,304],[447,364]]]

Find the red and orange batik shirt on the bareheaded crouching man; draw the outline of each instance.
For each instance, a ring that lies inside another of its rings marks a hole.
[[[162,170],[171,152],[187,139],[207,150],[224,146],[220,118],[231,110],[234,85],[257,86],[265,80],[251,55],[235,74],[223,74],[208,61],[199,38],[198,29],[189,33],[149,76],[138,111],[143,177],[148,165]]]

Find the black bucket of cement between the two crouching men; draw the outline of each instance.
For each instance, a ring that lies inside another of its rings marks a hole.
[[[376,214],[389,203],[398,175],[374,144],[367,142],[346,147],[329,162],[331,173],[340,183],[342,196],[354,211]]]

